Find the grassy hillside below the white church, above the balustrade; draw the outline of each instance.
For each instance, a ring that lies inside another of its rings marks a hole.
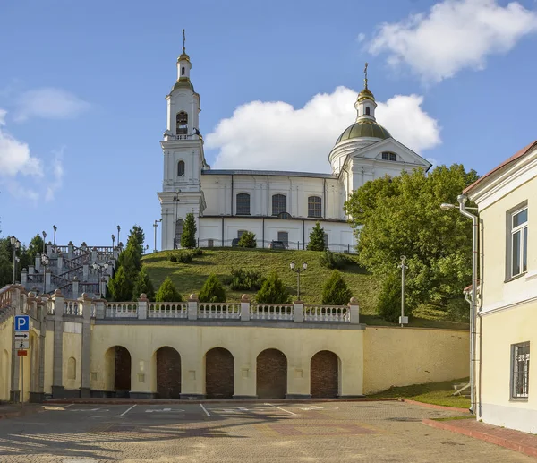
[[[185,298],[192,293],[199,293],[210,273],[216,273],[217,277],[222,278],[229,275],[231,270],[238,269],[259,270],[263,273],[276,270],[289,293],[296,296],[296,273],[289,269],[289,262],[294,261],[297,265],[308,262],[308,270],[301,274],[301,299],[306,304],[320,304],[323,284],[332,272],[320,265],[320,253],[316,251],[211,248],[203,249],[203,255],[195,257],[191,263],[171,262],[171,253],[174,252],[163,251],[145,255],[143,264],[156,289],[169,276]],[[362,321],[375,325],[391,325],[392,323],[384,322],[375,315],[378,290],[376,280],[359,265],[349,266],[341,270],[341,273],[353,295],[358,298]],[[243,293],[251,294],[252,298],[255,296],[254,292],[232,291],[226,287],[228,302],[239,301]],[[463,329],[468,326],[465,323],[448,322],[445,320],[445,313],[431,308],[414,312],[411,324]]]

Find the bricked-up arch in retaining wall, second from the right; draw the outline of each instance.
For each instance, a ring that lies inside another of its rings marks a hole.
[[[287,357],[277,349],[265,349],[256,360],[257,395],[260,399],[285,399]]]

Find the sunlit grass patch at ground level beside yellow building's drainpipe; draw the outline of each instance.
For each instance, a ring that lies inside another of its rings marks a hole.
[[[371,398],[389,399],[403,398],[413,399],[427,404],[443,405],[445,407],[469,408],[470,399],[461,396],[453,396],[454,384],[468,382],[468,378],[445,382],[427,382],[425,384],[412,384],[411,386],[392,387],[383,392],[372,394]]]

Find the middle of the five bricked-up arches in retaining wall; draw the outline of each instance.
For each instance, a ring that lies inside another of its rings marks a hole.
[[[233,399],[234,356],[224,347],[205,354],[205,393],[207,399]]]

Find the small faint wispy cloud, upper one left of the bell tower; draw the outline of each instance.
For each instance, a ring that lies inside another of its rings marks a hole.
[[[90,104],[72,93],[54,88],[28,90],[16,101],[15,120],[30,117],[69,119],[86,111]]]

